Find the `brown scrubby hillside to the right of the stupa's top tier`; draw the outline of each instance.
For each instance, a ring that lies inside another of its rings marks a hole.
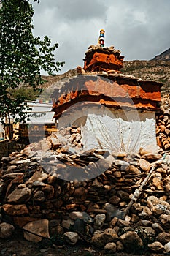
[[[162,94],[168,94],[170,88],[170,61],[124,61],[121,69],[125,75],[134,75],[144,80],[156,80],[164,84]]]

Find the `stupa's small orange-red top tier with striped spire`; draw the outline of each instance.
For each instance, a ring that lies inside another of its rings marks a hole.
[[[120,72],[124,56],[114,46],[104,47],[104,29],[101,29],[97,45],[90,45],[85,53],[84,69],[86,72]]]

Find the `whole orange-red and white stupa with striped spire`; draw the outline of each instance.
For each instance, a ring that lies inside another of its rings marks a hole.
[[[86,149],[129,153],[156,145],[162,83],[123,75],[124,57],[113,46],[104,47],[101,31],[98,44],[85,53],[84,67],[77,67],[77,76],[55,90],[54,117],[60,127],[82,127]]]

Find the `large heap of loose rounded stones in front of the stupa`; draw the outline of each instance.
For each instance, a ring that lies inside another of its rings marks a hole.
[[[83,151],[81,129],[63,128],[1,159],[0,238],[20,227],[34,242],[61,235],[112,253],[170,252],[169,166],[158,146]]]

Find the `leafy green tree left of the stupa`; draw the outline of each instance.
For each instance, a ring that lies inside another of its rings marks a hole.
[[[37,1],[37,0],[34,0]],[[23,6],[23,4],[25,4]],[[26,97],[14,94],[22,84],[43,83],[41,70],[55,75],[64,62],[55,61],[58,43],[32,34],[34,10],[26,0],[3,0],[0,7],[0,116],[26,121]]]

